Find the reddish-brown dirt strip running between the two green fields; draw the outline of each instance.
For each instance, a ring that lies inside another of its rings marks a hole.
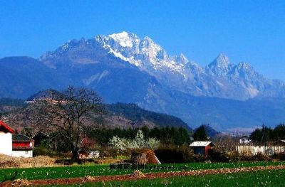
[[[41,179],[28,181],[31,186],[41,185],[59,185],[59,184],[76,184],[86,182],[100,182],[100,181],[130,181],[142,178],[170,178],[172,176],[202,176],[207,174],[219,173],[239,173],[244,171],[261,171],[269,169],[285,169],[285,166],[254,166],[233,169],[207,169],[207,170],[192,170],[192,171],[170,171],[161,173],[144,173],[145,176],[88,176],[85,178],[58,178],[58,179]],[[19,184],[18,184],[19,185]],[[11,181],[2,183],[0,186],[13,186]]]

